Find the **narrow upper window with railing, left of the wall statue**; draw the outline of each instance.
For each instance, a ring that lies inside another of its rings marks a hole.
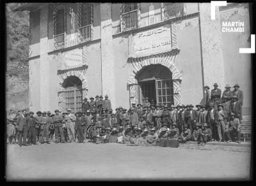
[[[54,45],[56,49],[60,49],[65,46],[65,10],[63,8],[56,11],[55,19]]]

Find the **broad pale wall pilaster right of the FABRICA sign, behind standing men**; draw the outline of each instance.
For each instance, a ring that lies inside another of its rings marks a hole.
[[[224,60],[223,45],[221,41],[220,11],[216,8],[215,20],[211,20],[211,4],[199,3],[200,27],[202,36],[202,57],[204,66],[204,85],[213,89],[212,85],[218,83],[224,89]]]

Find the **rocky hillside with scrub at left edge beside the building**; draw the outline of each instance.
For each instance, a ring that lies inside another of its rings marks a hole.
[[[6,4],[6,112],[28,108],[29,13]]]

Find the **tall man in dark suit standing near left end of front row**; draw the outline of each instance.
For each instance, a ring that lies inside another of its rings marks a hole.
[[[20,147],[22,145],[26,145],[26,139],[27,139],[27,133],[28,133],[28,127],[27,127],[27,118],[26,118],[26,110],[22,110],[22,115],[19,115],[17,117],[17,126],[19,131],[19,145]],[[23,144],[22,144],[22,136],[23,136]]]

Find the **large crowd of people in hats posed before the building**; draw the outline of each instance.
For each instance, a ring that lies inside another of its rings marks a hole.
[[[221,96],[218,84],[205,86],[205,104],[174,106],[132,103],[128,110],[111,108],[108,95],[84,98],[82,111],[19,111],[7,119],[8,143],[20,147],[39,143],[125,143],[178,147],[180,142],[237,141],[240,143],[243,92],[229,85]],[[196,110],[194,108],[196,107]]]

